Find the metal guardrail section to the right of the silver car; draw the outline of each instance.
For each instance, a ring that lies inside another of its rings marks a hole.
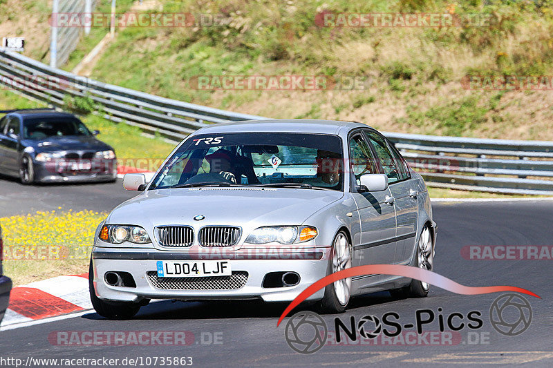
[[[429,186],[553,194],[553,142],[386,133]],[[496,175],[496,176],[491,176]]]

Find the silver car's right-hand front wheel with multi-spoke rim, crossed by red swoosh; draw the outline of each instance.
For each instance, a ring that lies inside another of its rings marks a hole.
[[[332,242],[332,257],[328,264],[328,275],[351,267],[351,244],[344,231],[337,233]],[[342,313],[346,310],[351,296],[351,278],[344,278],[324,289],[321,310],[324,313]]]

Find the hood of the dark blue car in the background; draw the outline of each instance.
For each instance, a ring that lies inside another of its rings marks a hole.
[[[111,146],[89,135],[67,135],[44,139],[27,139],[26,146],[32,146],[37,152],[55,151],[106,151]]]

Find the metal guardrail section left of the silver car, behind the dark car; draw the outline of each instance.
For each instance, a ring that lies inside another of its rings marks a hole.
[[[1,49],[0,84],[58,108],[68,109],[78,99],[91,101],[97,115],[176,141],[206,123],[264,119],[105,84]]]

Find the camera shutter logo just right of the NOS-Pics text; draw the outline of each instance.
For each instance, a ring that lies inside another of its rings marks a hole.
[[[532,307],[519,294],[503,294],[491,303],[489,322],[496,331],[505,336],[520,335],[532,322]]]

